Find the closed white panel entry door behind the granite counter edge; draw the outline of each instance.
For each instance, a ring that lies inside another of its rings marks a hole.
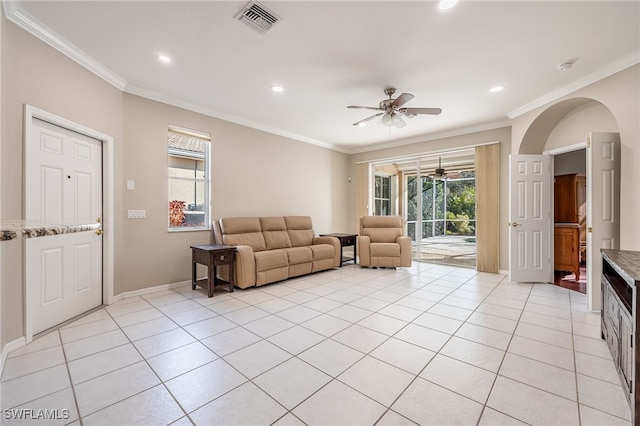
[[[100,141],[34,118],[26,158],[27,220],[50,225],[101,221]],[[32,334],[102,304],[99,233],[30,238],[25,251],[27,323]]]

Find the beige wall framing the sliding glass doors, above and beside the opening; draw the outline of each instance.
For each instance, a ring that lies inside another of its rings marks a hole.
[[[500,263],[501,270],[507,270],[509,267],[508,258],[508,219],[509,219],[509,154],[511,153],[511,128],[502,127],[494,130],[482,132],[468,133],[443,139],[435,139],[425,142],[419,142],[409,145],[402,145],[395,148],[385,148],[375,151],[353,154],[350,158],[349,174],[355,176],[356,164],[361,162],[378,161],[388,158],[412,156],[417,154],[425,154],[430,152],[454,151],[456,149],[468,148],[475,145],[486,143],[500,143]],[[355,200],[355,188],[350,193],[350,200]],[[352,220],[350,223],[356,223],[356,204],[349,203],[350,214]],[[357,229],[351,229],[357,232]]]

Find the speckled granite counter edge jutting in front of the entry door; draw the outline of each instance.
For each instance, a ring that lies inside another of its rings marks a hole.
[[[100,223],[61,224],[36,220],[3,220],[0,221],[0,241],[92,231],[101,226]]]

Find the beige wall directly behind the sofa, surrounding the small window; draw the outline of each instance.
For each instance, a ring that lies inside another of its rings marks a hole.
[[[124,96],[126,219],[116,293],[189,280],[193,244],[207,231],[167,231],[167,127],[211,133],[212,217],[309,215],[317,234],[347,228],[347,156],[325,148],[196,114],[134,95]],[[118,214],[118,213],[116,213]]]

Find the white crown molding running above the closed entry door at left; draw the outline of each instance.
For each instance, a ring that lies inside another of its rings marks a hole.
[[[77,46],[69,43],[51,28],[35,19],[29,13],[22,10],[20,0],[5,0],[4,14],[7,19],[39,40],[47,43],[63,55],[82,65],[107,83],[115,86],[119,90],[124,90],[127,85],[126,80],[102,65],[100,62],[87,55]]]

